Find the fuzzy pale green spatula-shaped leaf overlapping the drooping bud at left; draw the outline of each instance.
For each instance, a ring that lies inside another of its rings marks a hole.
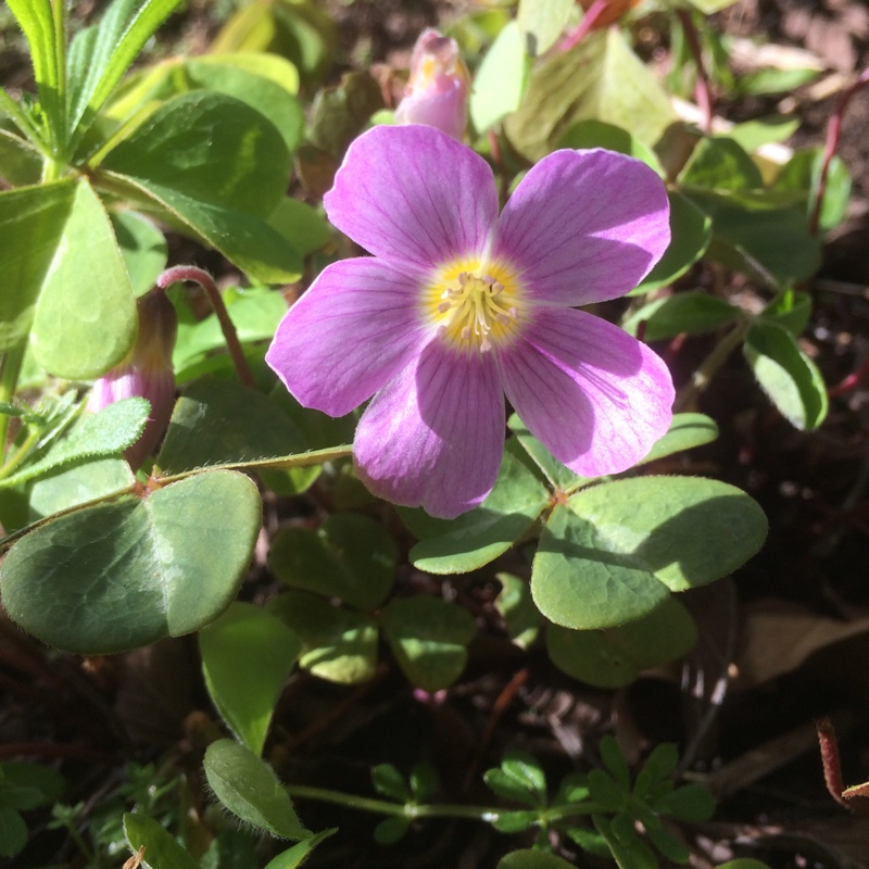
[[[123,399],[96,414],[85,414],[63,440],[58,441],[38,462],[0,480],[0,488],[42,477],[62,465],[81,458],[116,455],[139,439],[151,413],[140,398]]]

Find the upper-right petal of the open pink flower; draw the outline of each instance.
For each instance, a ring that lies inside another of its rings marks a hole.
[[[519,270],[533,299],[583,305],[632,290],[669,242],[667,191],[645,163],[556,151],[509,198],[494,255]]]

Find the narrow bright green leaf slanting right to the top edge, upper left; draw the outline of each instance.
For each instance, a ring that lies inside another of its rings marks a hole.
[[[181,0],[115,0],[88,41],[87,74],[71,93],[70,134],[78,140],[144,43]]]

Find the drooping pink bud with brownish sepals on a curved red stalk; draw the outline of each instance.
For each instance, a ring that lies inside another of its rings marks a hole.
[[[121,365],[93,383],[87,410],[96,413],[122,399],[148,399],[151,415],[139,440],[124,451],[136,470],[160,442],[175,404],[172,351],[178,332],[175,306],[163,290],[151,290],[137,303],[139,331],[136,344]]]

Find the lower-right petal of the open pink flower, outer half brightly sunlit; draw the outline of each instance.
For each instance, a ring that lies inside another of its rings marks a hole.
[[[522,338],[499,360],[507,399],[575,473],[627,470],[667,431],[670,373],[617,326],[581,311],[544,310]]]

